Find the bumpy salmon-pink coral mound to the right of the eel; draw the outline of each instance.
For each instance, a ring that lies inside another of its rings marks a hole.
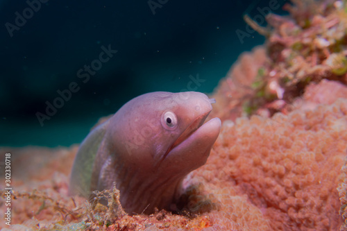
[[[346,149],[347,100],[340,100],[314,111],[240,118],[223,126],[198,173],[221,188],[230,182],[225,194],[246,195],[271,230],[337,230],[336,189]]]

